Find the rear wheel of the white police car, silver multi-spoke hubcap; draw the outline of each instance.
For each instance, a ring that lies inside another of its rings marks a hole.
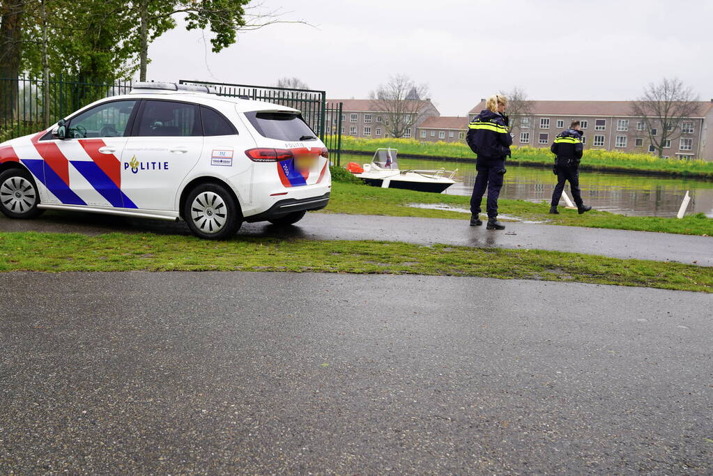
[[[217,184],[193,189],[185,201],[183,218],[193,234],[204,239],[228,239],[242,224],[235,199]]]

